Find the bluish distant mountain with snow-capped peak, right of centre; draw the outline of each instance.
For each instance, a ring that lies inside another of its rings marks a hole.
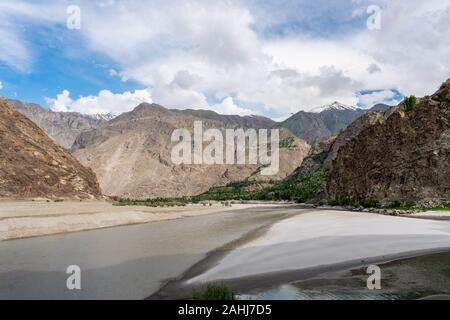
[[[366,111],[334,102],[313,112],[300,111],[276,126],[287,128],[309,144],[315,144],[338,134]]]

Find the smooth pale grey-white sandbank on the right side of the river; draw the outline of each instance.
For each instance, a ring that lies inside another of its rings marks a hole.
[[[187,281],[237,279],[450,248],[450,222],[323,210],[274,224]]]

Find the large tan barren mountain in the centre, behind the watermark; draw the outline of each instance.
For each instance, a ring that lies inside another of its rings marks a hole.
[[[156,104],[141,104],[131,112],[81,133],[71,151],[92,167],[103,192],[130,198],[177,197],[203,193],[213,186],[226,185],[259,176],[259,165],[175,165],[171,141],[175,129],[192,132],[194,121],[204,130],[235,128],[243,124],[261,127],[264,118],[220,116],[203,111],[169,110]],[[255,121],[256,122],[253,122]],[[282,179],[298,167],[309,145],[281,130],[280,172],[270,179]],[[268,179],[261,177],[261,179]]]

